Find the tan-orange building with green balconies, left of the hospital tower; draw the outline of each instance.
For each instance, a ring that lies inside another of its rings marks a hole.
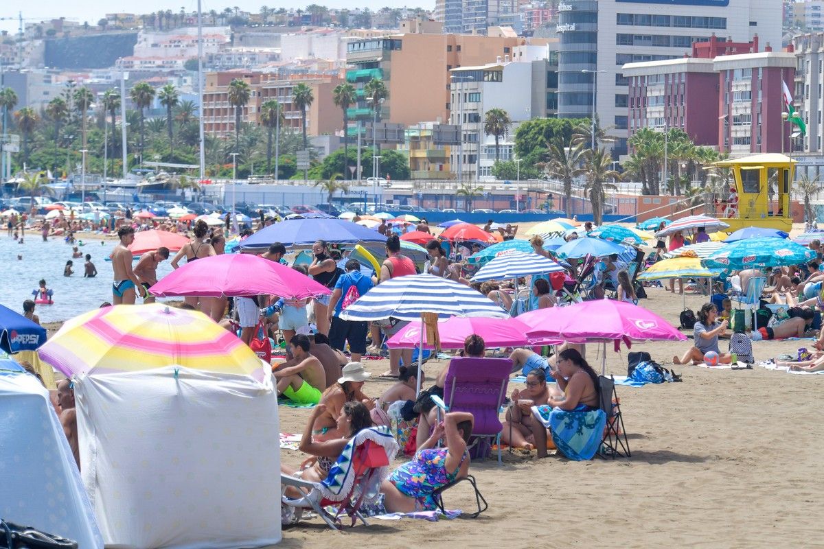
[[[383,80],[389,96],[382,105],[384,122],[407,126],[424,121],[447,123],[449,77],[453,68],[493,63],[511,55],[518,45],[544,45],[545,39],[516,36],[404,34],[353,40],[347,44],[346,63],[353,65],[346,80],[358,88],[358,105],[349,109],[351,120],[369,120],[372,109],[363,85]]]

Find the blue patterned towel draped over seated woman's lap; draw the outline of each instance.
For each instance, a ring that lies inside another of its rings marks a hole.
[[[568,412],[544,404],[533,406],[532,414],[550,429],[555,446],[569,459],[592,459],[601,446],[606,426],[603,410],[591,410],[581,404]]]

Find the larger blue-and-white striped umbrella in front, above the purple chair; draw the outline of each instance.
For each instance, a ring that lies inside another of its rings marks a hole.
[[[430,274],[407,275],[381,282],[340,314],[344,320],[420,320],[421,313],[506,318],[507,311],[471,287]]]

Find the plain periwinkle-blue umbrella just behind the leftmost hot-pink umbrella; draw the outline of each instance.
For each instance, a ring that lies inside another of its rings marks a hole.
[[[357,244],[358,242],[386,242],[386,236],[343,219],[296,219],[275,223],[241,242],[242,249],[269,248],[280,242],[284,246],[309,246],[316,240],[330,244]]]

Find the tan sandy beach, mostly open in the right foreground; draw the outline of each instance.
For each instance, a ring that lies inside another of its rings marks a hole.
[[[681,296],[648,289],[641,305],[677,323]],[[687,295],[697,309],[705,298]],[[756,360],[809,347],[810,341],[754,342]],[[689,343],[639,343],[660,362]],[[727,342],[722,341],[722,350]],[[600,365],[596,346],[587,358]],[[626,350],[607,350],[606,369],[626,375]],[[447,361],[430,361],[437,373]],[[366,361],[372,375],[386,361]],[[824,376],[765,370],[673,366],[683,383],[618,387],[632,458],[571,462],[557,455],[504,452],[473,462],[489,510],[477,519],[429,523],[372,519],[345,533],[319,519],[283,533],[281,547],[824,547],[817,488],[824,426],[818,421]],[[596,368],[598,369],[598,368]],[[391,384],[370,380],[378,396]],[[515,386],[511,385],[508,392]],[[281,429],[300,432],[307,410],[280,407]],[[301,454],[283,450],[283,463]],[[400,463],[400,462],[399,462]],[[468,486],[447,492],[447,507],[471,509]],[[812,515],[812,516],[811,516]],[[342,537],[343,536],[343,537]]]

